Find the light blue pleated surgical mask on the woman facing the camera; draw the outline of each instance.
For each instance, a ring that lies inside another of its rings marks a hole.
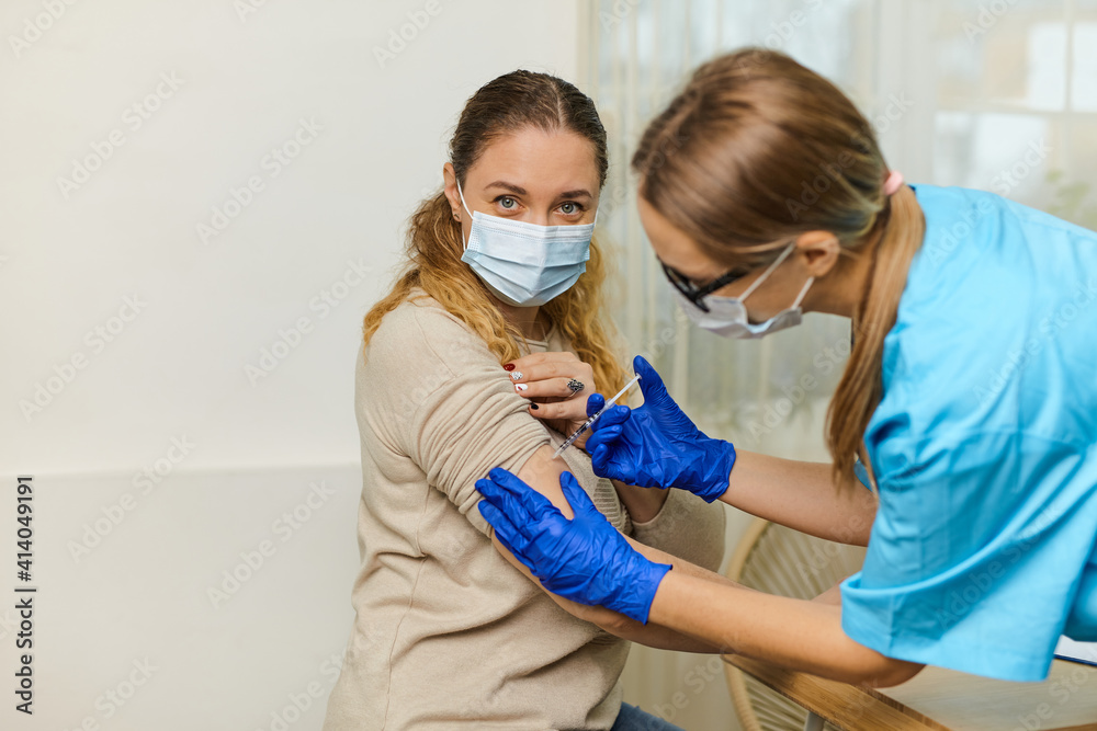
[[[473,228],[461,261],[496,297],[514,307],[535,307],[558,297],[587,271],[593,224],[539,226],[468,210]],[[598,214],[595,214],[598,220]]]

